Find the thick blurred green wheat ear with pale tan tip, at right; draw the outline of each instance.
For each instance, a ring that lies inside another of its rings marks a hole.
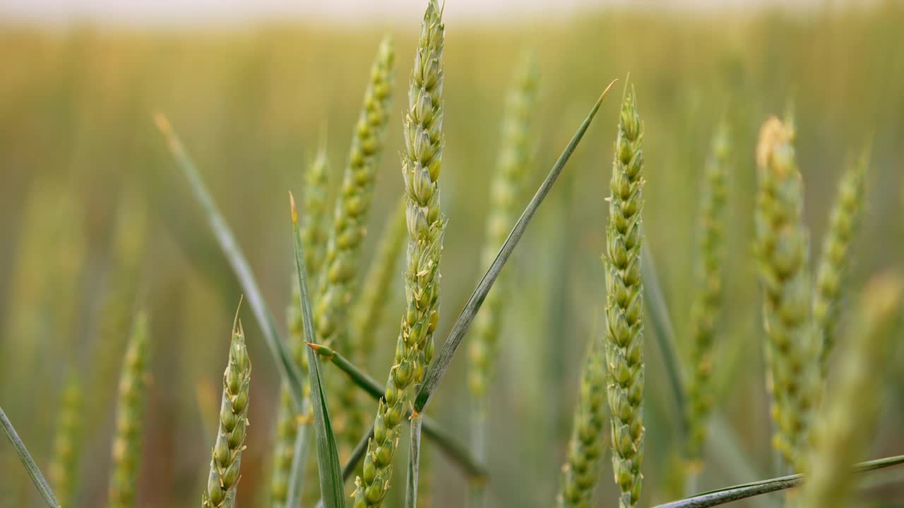
[[[793,139],[793,130],[775,117],[760,129],[755,221],[765,296],[767,390],[776,428],[773,446],[787,465],[801,471],[820,382],[814,361],[819,343],[810,313],[808,237],[801,219],[803,184]]]

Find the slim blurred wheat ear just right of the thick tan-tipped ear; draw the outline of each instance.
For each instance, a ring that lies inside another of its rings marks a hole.
[[[868,165],[869,157],[864,152],[855,164],[848,165],[842,175],[817,265],[813,321],[816,334],[822,339],[823,375],[832,355],[837,334],[836,327],[841,315],[839,303],[843,296],[842,285],[851,264],[851,244],[865,201],[864,181]]]

